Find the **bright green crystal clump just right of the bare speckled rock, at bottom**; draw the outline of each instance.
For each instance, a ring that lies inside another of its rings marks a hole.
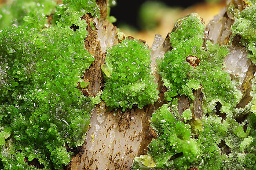
[[[178,120],[177,112],[177,108],[163,105],[153,113],[151,125],[158,138],[152,140],[148,153],[158,168],[188,169],[198,156],[196,140],[191,138],[191,127]]]

